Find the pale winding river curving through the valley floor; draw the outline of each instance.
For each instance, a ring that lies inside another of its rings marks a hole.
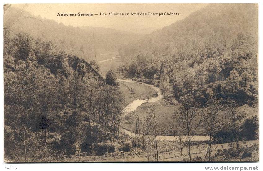
[[[110,60],[114,60],[116,58],[119,58],[120,56],[116,56],[116,57],[112,57],[110,59],[107,60],[101,60],[99,61],[99,63],[103,63],[103,62],[107,62]],[[160,88],[154,86],[154,85],[150,85],[150,84],[146,84],[146,83],[142,83],[142,82],[137,82],[137,81],[133,81],[131,79],[118,79],[119,81],[122,82],[129,82],[129,83],[138,83],[138,84],[142,84],[142,85],[147,85],[149,87],[151,87],[154,91],[157,92],[157,97],[154,98],[150,98],[149,99],[149,103],[152,102],[156,102],[158,100],[161,100],[164,98]],[[131,102],[130,104],[128,104],[125,108],[124,108],[124,112],[123,112],[123,117],[125,117],[127,114],[129,114],[132,111],[135,111],[139,106],[141,106],[143,103],[146,103],[147,99],[145,100],[141,100],[141,99],[136,99],[133,102]],[[125,134],[128,134],[130,137],[135,137],[135,133],[131,132],[129,130],[126,130],[124,128],[121,128],[121,132],[124,132]],[[164,136],[164,135],[160,135],[158,136],[160,138],[160,140],[162,141],[178,141],[178,137],[177,136]],[[183,137],[183,139],[186,139],[186,136]],[[194,135],[191,139],[191,141],[206,141],[209,139],[209,136],[199,136],[199,135]]]

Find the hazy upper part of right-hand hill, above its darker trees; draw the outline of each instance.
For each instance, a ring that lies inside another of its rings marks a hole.
[[[213,46],[226,46],[240,32],[257,41],[257,16],[257,4],[210,4],[134,44],[122,47],[120,54],[128,56],[147,51],[157,58],[178,54],[186,59]]]

